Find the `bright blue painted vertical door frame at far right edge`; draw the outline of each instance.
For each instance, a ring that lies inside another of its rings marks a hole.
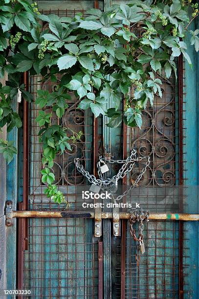
[[[192,22],[190,29],[199,28],[199,22],[196,19]],[[190,43],[190,36],[187,37]],[[186,119],[184,127],[186,129],[186,148],[184,152],[184,160],[186,162],[186,172],[184,173],[187,180],[187,186],[199,185],[199,55],[195,52],[194,46],[188,47],[187,50],[193,64],[193,70],[185,62],[185,92],[184,100],[186,102]],[[197,150],[198,149],[198,152]],[[185,213],[197,213],[198,211],[198,196],[192,196],[192,192],[188,192],[188,206]],[[198,221],[184,222],[184,242],[186,248],[184,253],[186,262],[190,264],[188,268],[188,276],[185,277],[185,282],[188,283],[184,298],[195,299],[199,298],[199,223]]]

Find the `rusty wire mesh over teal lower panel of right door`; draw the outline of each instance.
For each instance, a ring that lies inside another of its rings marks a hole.
[[[130,236],[129,228],[127,229],[125,298],[179,298],[178,223],[150,221],[144,231],[144,243],[146,252],[140,256],[137,267],[137,243]],[[183,267],[183,275],[186,276],[188,265],[184,264]],[[184,283],[184,294],[185,289]]]

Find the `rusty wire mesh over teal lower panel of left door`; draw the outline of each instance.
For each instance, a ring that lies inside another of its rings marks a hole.
[[[31,298],[97,298],[98,242],[89,219],[29,219],[24,288]]]

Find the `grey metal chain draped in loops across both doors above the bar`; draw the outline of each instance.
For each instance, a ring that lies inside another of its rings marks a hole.
[[[134,156],[134,158],[133,158],[133,156]],[[75,163],[75,166],[76,166],[77,170],[80,173],[82,173],[82,175],[84,175],[91,184],[97,185],[99,187],[103,186],[104,188],[107,188],[107,186],[110,185],[111,183],[117,184],[117,181],[119,179],[124,178],[127,175],[128,172],[132,171],[135,162],[139,162],[139,161],[142,161],[143,159],[147,159],[145,167],[140,172],[140,174],[137,176],[136,180],[131,185],[131,187],[128,190],[126,190],[122,195],[119,195],[116,198],[114,198],[114,201],[118,201],[118,200],[121,200],[124,196],[126,196],[129,192],[132,191],[132,189],[140,181],[140,179],[142,178],[143,174],[147,170],[147,167],[150,164],[150,157],[149,156],[137,157],[137,158],[135,158],[135,156],[136,156],[136,150],[135,149],[133,149],[131,151],[130,156],[126,160],[112,160],[112,159],[108,159],[108,158],[102,158],[100,156],[99,157],[99,162],[97,162],[99,179],[96,179],[96,177],[93,174],[90,174],[88,171],[86,171],[84,169],[83,165],[80,164],[80,158],[75,158],[74,159],[74,163]],[[103,179],[102,173],[100,172],[100,163],[102,161],[106,161],[106,162],[109,162],[109,163],[124,163],[124,164],[122,165],[122,167],[120,168],[120,170],[118,171],[118,173],[116,175],[114,175],[112,178]],[[130,163],[130,165],[129,165],[129,163]],[[128,165],[129,165],[129,167],[128,167]]]

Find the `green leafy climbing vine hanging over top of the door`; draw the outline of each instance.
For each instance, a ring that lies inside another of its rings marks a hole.
[[[23,72],[41,74],[44,81],[56,85],[52,93],[38,90],[36,99],[43,145],[41,174],[48,197],[65,201],[53,185],[53,161],[58,152],[71,150],[70,142],[82,135],[51,124],[53,112],[58,119],[63,117],[68,91],[79,97],[81,109],[91,109],[95,117],[107,115],[107,126],[124,122],[141,128],[142,109],[148,102],[153,105],[155,94],[162,96],[161,77],[170,78],[172,73],[177,77],[175,58],[182,54],[192,67],[184,38],[190,35],[191,45],[199,51],[199,29],[189,30],[198,14],[198,4],[192,0],[132,0],[112,5],[106,12],[90,9],[87,17],[74,18],[43,15],[36,2],[0,0],[0,78],[8,73],[6,86],[0,85],[0,127],[7,125],[10,131],[22,126],[12,108],[16,96],[33,101],[22,84]],[[51,107],[51,112],[44,107]],[[13,142],[0,139],[0,152],[9,163],[16,153]]]

